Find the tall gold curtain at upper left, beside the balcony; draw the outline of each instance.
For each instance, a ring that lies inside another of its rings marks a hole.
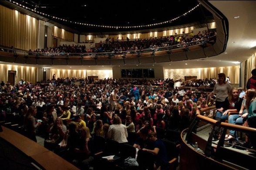
[[[0,5],[0,44],[34,51],[38,44],[38,20]]]

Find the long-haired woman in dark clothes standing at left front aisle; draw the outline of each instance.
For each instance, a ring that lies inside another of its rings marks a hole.
[[[36,113],[37,113],[37,108],[35,108],[34,106],[30,106],[24,118],[24,129],[26,131],[25,134],[28,138],[30,138],[35,142],[37,142],[36,128],[41,124],[41,122],[39,121],[36,123],[36,120],[34,118]]]

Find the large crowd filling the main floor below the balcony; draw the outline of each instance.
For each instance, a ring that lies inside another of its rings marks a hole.
[[[213,83],[212,92],[191,90],[206,82]],[[2,82],[0,121],[20,124],[31,140],[43,136],[45,147],[85,167],[93,161],[90,141],[94,135],[126,144],[129,133],[140,134],[134,147],[155,154],[155,165],[166,167],[165,147],[156,128],[182,131],[199,108],[216,105],[216,120],[243,124],[247,119],[249,126],[255,127],[255,89],[232,88],[223,73],[218,80],[198,80],[189,86],[185,90],[174,87],[172,79],[57,78],[16,86]],[[228,118],[229,111],[239,115]],[[226,135],[227,141],[237,139],[235,131]]]

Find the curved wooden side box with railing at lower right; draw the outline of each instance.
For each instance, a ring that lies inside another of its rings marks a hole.
[[[214,110],[214,107],[215,106],[197,110],[196,118],[189,129],[182,131],[180,169],[254,169],[254,165],[248,162],[256,161],[256,150],[250,148],[248,148],[248,150],[245,150],[246,148],[239,150],[238,148],[230,146],[226,147],[226,144],[224,146],[224,139],[227,129],[243,132],[246,135],[255,137],[256,128],[219,122],[202,115],[204,112]],[[198,123],[200,121],[209,124],[206,124],[203,128],[208,127],[211,131],[210,133],[207,132],[208,130],[199,133],[200,131],[197,129],[199,129]],[[212,135],[216,133],[216,129],[221,129],[220,138],[219,141],[213,142]],[[208,136],[208,139],[205,140],[205,136]],[[194,149],[193,146],[195,142],[198,142],[199,150]]]

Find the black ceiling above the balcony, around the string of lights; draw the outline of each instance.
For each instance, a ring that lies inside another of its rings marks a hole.
[[[45,16],[49,21],[61,23],[62,25],[75,29],[80,33],[102,33],[111,31],[131,31],[145,29],[145,27],[124,29],[120,27],[145,26],[148,24],[161,23],[170,21],[181,15],[182,17],[180,17],[178,20],[167,22],[162,25],[151,26],[150,28],[177,26],[193,22],[205,23],[205,19],[211,18],[212,16],[212,14],[202,6],[199,6],[195,10],[192,10],[190,13],[187,13],[185,16],[183,16],[184,13],[188,12],[199,4],[199,2],[196,0],[188,1],[185,5],[181,0],[168,0],[161,3],[150,3],[146,0],[69,0],[65,1],[65,3],[54,0],[19,0],[17,2],[22,6],[24,5],[30,9],[34,9],[38,12],[50,15]],[[56,17],[63,20],[56,19]],[[78,23],[87,23],[97,26],[87,26]],[[114,28],[100,26],[113,26]],[[118,29],[116,29],[117,26]]]

